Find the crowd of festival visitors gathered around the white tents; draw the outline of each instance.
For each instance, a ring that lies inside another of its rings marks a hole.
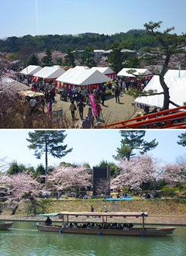
[[[52,106],[55,101],[56,92],[60,92],[60,100],[67,102],[71,102],[69,106],[69,110],[71,111],[71,118],[72,120],[75,119],[76,111],[79,114],[80,119],[82,120],[81,128],[82,129],[91,129],[91,128],[99,128],[102,126],[100,115],[102,114],[102,106],[105,106],[106,95],[109,90],[109,93],[115,95],[115,102],[119,103],[119,95],[121,92],[127,92],[131,88],[137,88],[139,91],[142,90],[147,83],[149,82],[148,79],[142,80],[127,80],[123,78],[117,78],[112,83],[105,85],[104,83],[98,85],[95,88],[81,88],[80,86],[75,86],[68,88],[64,85],[62,88],[56,88],[53,84],[53,81],[45,81],[43,78],[39,78],[37,81],[30,81],[31,76],[25,76],[19,74],[19,80],[26,80],[28,81],[28,85],[30,82],[33,82],[32,87],[30,88],[33,92],[43,92],[42,100],[40,101],[40,107],[42,112],[44,112],[44,107],[47,106],[47,111],[52,112]],[[106,92],[106,93],[105,93]],[[97,116],[93,115],[91,101],[89,99],[89,95],[94,95],[95,98],[95,106]],[[84,107],[89,106],[88,112],[85,113],[84,116]],[[142,107],[142,106],[140,106]],[[36,101],[32,99],[30,101],[30,113],[33,113],[36,109]],[[157,111],[154,109],[154,111]],[[145,107],[144,112],[146,114],[149,113],[148,107]]]

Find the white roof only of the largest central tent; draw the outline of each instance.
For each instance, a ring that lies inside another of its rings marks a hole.
[[[110,78],[99,71],[71,68],[65,74],[60,75],[57,81],[71,85],[92,85],[110,81]]]

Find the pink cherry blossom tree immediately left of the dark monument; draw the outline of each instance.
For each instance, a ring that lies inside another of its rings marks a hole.
[[[64,189],[75,190],[91,185],[90,169],[84,165],[58,166],[47,175],[47,182],[50,188],[55,191]]]

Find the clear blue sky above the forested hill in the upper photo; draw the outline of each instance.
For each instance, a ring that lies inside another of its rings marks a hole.
[[[47,34],[115,34],[163,21],[186,32],[185,0],[0,0],[0,38]]]

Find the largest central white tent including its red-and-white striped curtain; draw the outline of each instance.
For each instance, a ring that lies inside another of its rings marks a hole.
[[[110,81],[110,78],[99,71],[71,68],[57,78],[56,87],[67,86],[67,88],[71,88],[77,85],[81,88],[94,89],[99,84],[107,81]]]

